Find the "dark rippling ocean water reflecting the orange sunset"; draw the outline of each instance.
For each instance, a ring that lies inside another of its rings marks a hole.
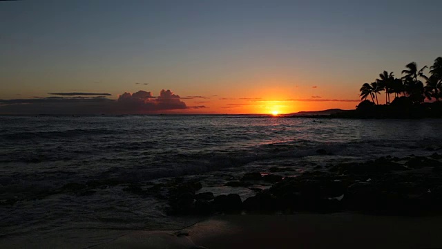
[[[112,231],[180,229],[202,218],[169,216],[165,199],[125,188],[194,179],[200,192],[244,200],[253,190],[224,184],[245,172],[428,156],[442,150],[441,131],[436,119],[0,116],[0,245],[57,238],[84,248]]]

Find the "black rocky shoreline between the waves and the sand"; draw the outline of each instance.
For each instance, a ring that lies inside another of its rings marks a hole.
[[[214,196],[198,193],[199,181],[169,183],[171,215],[294,214],[296,212],[361,212],[364,214],[421,216],[442,213],[442,154],[397,158],[385,156],[365,163],[339,163],[295,177],[289,170],[249,172],[230,187],[273,183],[267,190],[253,189],[244,201],[238,194]],[[155,186],[154,186],[155,187]],[[165,187],[163,185],[163,187]],[[160,187],[157,187],[160,188]]]

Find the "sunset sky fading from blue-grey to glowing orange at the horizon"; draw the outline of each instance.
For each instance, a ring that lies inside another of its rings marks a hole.
[[[354,109],[382,71],[400,77],[409,62],[442,56],[441,9],[439,0],[0,1],[0,113]]]

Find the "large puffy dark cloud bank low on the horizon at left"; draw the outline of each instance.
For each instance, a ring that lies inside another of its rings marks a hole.
[[[104,95],[0,100],[0,113],[4,114],[142,114],[200,108],[206,107],[187,107],[186,103],[181,101],[180,95],[170,90],[162,90],[159,96],[153,96],[147,91],[123,93],[117,100],[108,99]]]

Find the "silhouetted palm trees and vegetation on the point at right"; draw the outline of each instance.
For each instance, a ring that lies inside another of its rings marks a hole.
[[[440,118],[442,117],[442,57],[430,66],[419,69],[416,62],[405,66],[402,77],[383,71],[372,83],[364,83],[356,111],[338,113],[339,118]],[[385,104],[379,104],[378,95],[385,93]],[[391,95],[394,99],[391,100]]]

